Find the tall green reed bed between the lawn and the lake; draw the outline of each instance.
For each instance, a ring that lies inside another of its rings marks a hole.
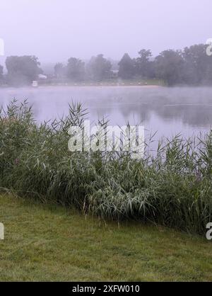
[[[204,234],[212,215],[212,135],[180,136],[142,160],[129,154],[69,152],[70,125],[86,111],[37,125],[27,102],[0,115],[0,187],[110,219],[136,219]]]

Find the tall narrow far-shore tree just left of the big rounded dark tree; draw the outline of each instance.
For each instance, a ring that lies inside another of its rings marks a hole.
[[[151,50],[140,50],[139,57],[136,58],[136,74],[144,78],[153,77],[153,62],[150,60],[152,57]]]

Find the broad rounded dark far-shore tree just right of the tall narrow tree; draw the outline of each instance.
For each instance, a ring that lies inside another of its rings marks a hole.
[[[182,52],[165,50],[155,58],[155,73],[159,79],[163,79],[169,86],[183,82],[184,59]]]

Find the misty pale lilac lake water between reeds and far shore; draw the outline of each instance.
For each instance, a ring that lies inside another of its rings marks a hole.
[[[157,132],[155,139],[184,137],[209,132],[212,123],[212,88],[157,86],[47,86],[23,89],[0,89],[0,105],[16,98],[33,104],[37,120],[60,118],[69,112],[71,101],[88,108],[92,122],[107,117],[110,125],[139,123],[146,137]]]

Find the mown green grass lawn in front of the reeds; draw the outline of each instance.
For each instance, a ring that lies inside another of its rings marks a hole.
[[[212,244],[162,227],[102,222],[0,196],[0,280],[212,280]]]

